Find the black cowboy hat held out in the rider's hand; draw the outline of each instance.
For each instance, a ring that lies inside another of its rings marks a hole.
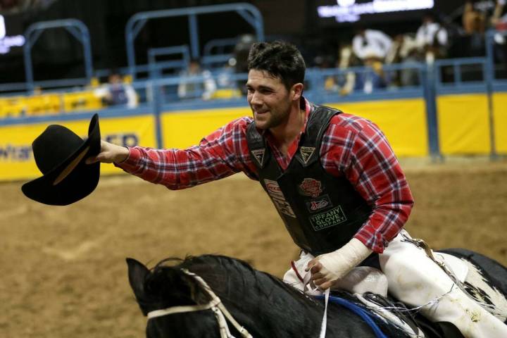
[[[63,125],[49,125],[32,143],[43,176],[23,184],[28,198],[51,206],[67,206],[92,193],[99,183],[100,163],[84,161],[101,150],[99,115],[89,123],[83,140]]]

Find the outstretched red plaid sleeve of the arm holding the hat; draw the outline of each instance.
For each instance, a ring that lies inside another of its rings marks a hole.
[[[256,179],[246,144],[250,118],[239,118],[221,127],[188,149],[151,149],[134,146],[122,163],[125,172],[169,189],[185,189],[243,171]]]

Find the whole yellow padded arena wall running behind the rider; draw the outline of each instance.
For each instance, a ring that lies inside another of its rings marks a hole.
[[[399,99],[331,103],[327,106],[360,115],[376,123],[386,134],[397,156],[427,156],[425,101]],[[507,93],[493,96],[496,148],[507,154]],[[442,154],[489,154],[489,118],[485,94],[445,95],[437,98],[439,141]],[[251,115],[248,107],[206,111],[175,111],[161,115],[164,148],[187,148],[235,118]],[[57,118],[55,116],[55,118]],[[86,136],[89,120],[59,121]],[[32,141],[46,123],[0,125],[0,180],[25,180],[41,173],[32,155]],[[155,118],[151,115],[100,119],[102,138],[115,144],[156,147]],[[102,173],[118,173],[113,165],[101,165]]]

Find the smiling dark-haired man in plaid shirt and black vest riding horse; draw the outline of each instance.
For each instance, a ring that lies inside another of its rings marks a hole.
[[[169,189],[242,171],[261,182],[302,259],[311,255],[306,269],[320,289],[380,253],[389,287],[402,301],[426,305],[428,317],[456,322],[468,337],[507,334],[461,290],[449,292],[450,278],[401,232],[413,198],[384,134],[368,120],[309,103],[302,96],[304,74],[303,58],[291,44],[254,44],[246,82],[253,118],[234,120],[186,150],[102,142],[89,162],[113,162]],[[435,309],[436,301],[447,306]],[[467,311],[482,311],[479,325],[471,327]]]

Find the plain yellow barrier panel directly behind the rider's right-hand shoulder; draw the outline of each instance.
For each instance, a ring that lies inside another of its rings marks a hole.
[[[399,99],[325,104],[373,121],[384,132],[396,156],[427,156],[424,99]]]

